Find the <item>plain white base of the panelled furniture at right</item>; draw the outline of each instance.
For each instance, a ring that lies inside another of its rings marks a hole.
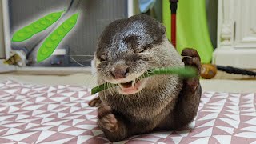
[[[256,69],[256,49],[216,49],[214,51],[213,64]]]

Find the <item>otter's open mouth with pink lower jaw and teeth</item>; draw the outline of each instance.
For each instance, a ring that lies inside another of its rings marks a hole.
[[[145,87],[146,79],[134,79],[126,83],[118,83],[118,92],[120,94],[135,94]]]

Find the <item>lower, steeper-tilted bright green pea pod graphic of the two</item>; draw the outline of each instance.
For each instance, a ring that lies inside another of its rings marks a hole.
[[[73,14],[46,38],[38,50],[37,62],[46,60],[46,58],[49,58],[50,55],[54,53],[54,50],[57,48],[58,44],[62,42],[62,39],[65,38],[66,34],[73,29],[77,21],[78,13]]]

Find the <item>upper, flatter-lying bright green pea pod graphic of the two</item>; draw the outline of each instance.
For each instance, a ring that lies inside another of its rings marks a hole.
[[[43,18],[38,19],[37,21],[31,23],[28,26],[23,27],[14,33],[12,42],[22,42],[38,34],[42,30],[46,30],[49,26],[57,22],[61,18],[64,11],[55,12],[46,15]]]

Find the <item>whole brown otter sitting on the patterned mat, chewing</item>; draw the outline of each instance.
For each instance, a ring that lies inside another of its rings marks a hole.
[[[111,142],[176,130],[196,116],[202,94],[198,52],[186,48],[178,54],[166,38],[165,26],[154,18],[138,14],[111,22],[98,38],[94,60],[98,85],[118,84],[89,103],[98,106],[98,126]],[[171,66],[194,66],[198,77],[138,79],[146,70]]]

